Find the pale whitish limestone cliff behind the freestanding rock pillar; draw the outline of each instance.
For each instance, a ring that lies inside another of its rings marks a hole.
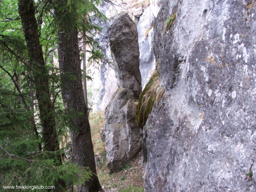
[[[151,72],[154,71],[153,26],[161,5],[161,0],[151,0],[150,4],[143,3],[143,1],[139,3],[139,1],[136,2],[134,0],[113,0],[111,2],[114,4],[103,2],[99,8],[110,21],[99,22],[94,18],[94,23],[103,28],[102,32],[96,34],[94,39],[97,40],[103,48],[106,58],[112,62],[107,29],[110,26],[111,20],[116,18],[118,14],[121,12],[128,12],[129,16],[137,25],[140,46],[140,72],[142,76],[142,86],[144,87],[150,78]],[[93,81],[88,82],[88,84],[91,83],[93,87],[94,111],[105,110],[112,95],[118,88],[118,80],[115,78],[114,66],[106,63],[102,64],[103,66],[100,68],[95,68],[94,65],[89,66],[90,71],[92,71],[89,75],[92,76]]]

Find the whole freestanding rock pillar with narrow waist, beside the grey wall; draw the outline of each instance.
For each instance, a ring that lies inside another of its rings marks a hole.
[[[101,136],[106,145],[107,166],[111,171],[118,171],[141,147],[140,128],[135,121],[137,98],[142,90],[139,45],[136,25],[127,13],[113,21],[108,34],[120,82],[106,108]]]

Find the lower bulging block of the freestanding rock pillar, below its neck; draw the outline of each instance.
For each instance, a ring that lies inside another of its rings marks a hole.
[[[120,88],[106,108],[106,123],[101,136],[111,171],[122,169],[140,150],[140,128],[135,121],[137,104],[131,89]]]

